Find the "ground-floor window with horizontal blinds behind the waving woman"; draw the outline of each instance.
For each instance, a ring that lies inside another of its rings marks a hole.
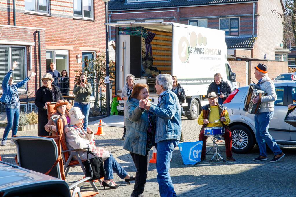
[[[25,47],[0,46],[0,86],[12,63],[17,62],[17,68],[13,71],[18,83],[26,78]]]

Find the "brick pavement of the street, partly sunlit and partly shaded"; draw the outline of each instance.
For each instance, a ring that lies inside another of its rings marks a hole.
[[[91,126],[93,130],[97,126]],[[185,141],[197,141],[200,126],[196,120],[182,119],[182,131]],[[3,135],[4,129],[0,129]],[[113,156],[120,165],[131,174],[135,174],[136,169],[128,151],[123,150],[123,140],[121,140],[123,128],[104,127],[107,135],[95,136],[97,145],[106,147],[112,151]],[[20,136],[37,135],[37,131],[18,132]],[[208,148],[211,146],[208,140]],[[170,167],[170,175],[174,183],[178,196],[296,196],[295,188],[295,147],[281,146],[287,155],[277,163],[269,161],[254,162],[253,158],[258,156],[258,147],[249,154],[234,154],[236,162],[213,162],[210,163],[210,155],[207,161],[197,165],[184,165],[178,148],[173,152],[173,159]],[[225,156],[224,144],[219,145],[222,156]],[[3,161],[15,164],[15,145],[0,147],[0,154]],[[152,151],[150,151],[150,157]],[[268,153],[268,159],[273,157]],[[149,165],[147,184],[144,196],[159,196],[158,184],[156,180],[155,164]],[[71,168],[67,176],[67,182],[73,183],[83,176],[82,170],[78,167]],[[115,174],[115,182],[120,186],[118,189],[110,190],[98,185],[100,194],[98,196],[130,196],[133,190],[133,183],[129,185]],[[83,183],[82,191],[91,190],[88,183]]]

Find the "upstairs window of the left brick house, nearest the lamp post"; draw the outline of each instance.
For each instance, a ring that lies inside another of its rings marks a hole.
[[[73,0],[74,17],[94,19],[93,0]]]

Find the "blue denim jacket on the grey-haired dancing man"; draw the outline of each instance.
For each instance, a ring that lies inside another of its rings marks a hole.
[[[155,142],[167,139],[180,140],[181,109],[178,97],[171,90],[165,91],[157,106],[151,105],[149,114],[156,116]]]

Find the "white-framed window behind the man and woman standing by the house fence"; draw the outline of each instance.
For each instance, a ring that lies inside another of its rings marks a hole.
[[[68,67],[68,51],[65,50],[48,50],[46,51],[46,70],[50,69],[50,63],[56,64],[56,70],[62,72],[67,70],[69,75]]]

